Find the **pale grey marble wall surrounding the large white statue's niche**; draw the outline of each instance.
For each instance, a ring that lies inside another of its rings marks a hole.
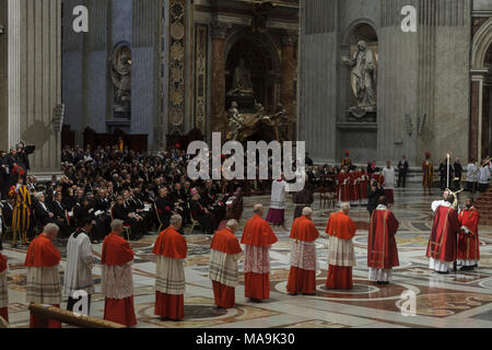
[[[411,166],[425,151],[468,156],[471,8],[469,0],[446,3],[302,2],[300,124],[306,126],[300,126],[300,139],[308,140],[315,160],[338,163],[345,150],[356,163],[406,155]],[[408,4],[418,9],[417,33],[401,31],[400,11]],[[350,54],[350,31],[361,23],[377,34],[376,124],[347,122],[354,96],[341,57]]]

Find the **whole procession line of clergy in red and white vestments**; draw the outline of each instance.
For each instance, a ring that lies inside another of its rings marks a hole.
[[[479,213],[473,208],[473,199],[468,198],[466,208],[455,209],[454,195],[446,190],[443,200],[434,201],[434,224],[429,240],[426,256],[430,269],[438,273],[448,273],[452,262],[469,270],[478,265]],[[340,205],[341,210],[330,215],[326,233],[328,241],[328,276],[325,289],[350,290],[352,268],[356,265],[352,238],[356,226],[349,217],[351,206]],[[212,281],[215,305],[220,308],[235,307],[235,288],[239,282],[238,261],[244,256],[245,296],[253,302],[270,298],[270,256],[271,246],[278,238],[269,223],[262,219],[262,205],[255,205],[254,217],[246,223],[241,238],[245,245],[243,252],[235,233],[236,220],[230,220],[226,228],[218,231],[211,243],[209,278]],[[155,269],[155,308],[154,314],[162,319],[181,320],[185,318],[184,294],[186,278],[184,261],[188,248],[185,237],[178,232],[183,218],[175,214],[169,226],[157,237],[153,247],[156,255]],[[28,246],[25,266],[27,303],[49,304],[60,307],[62,293],[68,296],[67,310],[74,310],[80,301],[86,303],[90,314],[91,294],[94,293],[92,276],[93,250],[87,232],[93,222],[83,221],[80,230],[74,232],[67,246],[67,266],[63,291],[59,279],[61,255],[55,247],[59,228],[47,224],[44,232]],[[388,284],[391,269],[399,266],[398,247],[395,235],[399,222],[387,207],[384,196],[371,217],[367,244],[368,280]],[[137,325],[133,306],[133,280],[131,265],[133,252],[130,244],[121,237],[124,222],[114,220],[112,233],[104,240],[102,250],[102,294],[105,296],[104,319],[131,327]],[[313,210],[305,207],[302,215],[294,220],[290,237],[293,240],[286,284],[290,295],[316,294],[315,241],[319,237],[313,222]],[[81,293],[82,292],[82,293]],[[7,258],[0,254],[0,316],[8,320]],[[82,312],[83,313],[83,312]],[[40,318],[33,313],[30,318],[32,328],[60,328],[61,324],[52,319]]]

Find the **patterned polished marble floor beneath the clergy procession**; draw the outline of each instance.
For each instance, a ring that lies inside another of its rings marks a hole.
[[[400,221],[397,234],[400,267],[394,270],[389,285],[377,285],[367,280],[366,241],[368,214],[364,207],[353,208],[356,222],[354,238],[358,266],[354,268],[354,289],[326,291],[321,287],[327,277],[327,244],[325,234],[317,242],[319,270],[317,293],[314,296],[290,296],[285,291],[289,275],[291,242],[289,232],[276,229],[279,242],[271,249],[271,299],[261,304],[244,298],[244,285],[236,289],[237,307],[220,311],[213,305],[211,281],[207,278],[210,236],[188,235],[189,257],[186,260],[187,290],[186,319],[162,322],[153,315],[154,257],[151,254],[155,235],[132,243],[136,253],[133,266],[134,305],[138,326],[142,328],[406,328],[406,327],[492,327],[492,226],[480,226],[481,261],[475,271],[458,271],[447,276],[427,269],[425,248],[431,232],[430,203],[440,195],[423,197],[421,190],[397,189],[394,212]],[[246,198],[241,225],[251,215],[253,205],[267,208],[269,197]],[[328,215],[335,209],[320,208],[318,196],[314,220],[325,232]],[[293,207],[289,206],[286,226],[292,223]],[[238,235],[241,236],[241,232]],[[9,257],[10,319],[14,328],[28,324],[25,304],[25,249],[12,249],[4,244]],[[101,245],[94,247],[101,253]],[[60,247],[63,253],[63,248]],[[96,294],[93,295],[92,316],[103,317],[104,299],[101,295],[101,267],[95,258],[93,270]],[[61,262],[60,277],[65,260]],[[242,266],[239,266],[242,270]],[[244,281],[243,275],[242,280]],[[414,308],[409,307],[414,305]],[[65,304],[62,305],[65,307]],[[406,311],[406,312],[402,312]],[[414,313],[412,313],[412,311]]]

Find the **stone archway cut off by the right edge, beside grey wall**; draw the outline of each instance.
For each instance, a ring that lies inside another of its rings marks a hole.
[[[471,47],[470,158],[492,153],[492,19],[473,36]]]

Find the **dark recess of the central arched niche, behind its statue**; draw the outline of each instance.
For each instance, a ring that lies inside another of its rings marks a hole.
[[[268,112],[274,110],[280,94],[280,56],[273,40],[267,34],[238,30],[225,44],[225,90],[233,86],[233,75],[239,61],[250,72],[255,97]],[[226,101],[226,108],[231,102]]]

